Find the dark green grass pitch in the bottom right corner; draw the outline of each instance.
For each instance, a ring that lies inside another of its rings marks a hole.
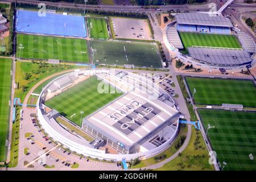
[[[200,109],[204,127],[217,153],[219,162],[226,162],[225,170],[256,169],[256,112]],[[254,159],[250,160],[249,155]]]

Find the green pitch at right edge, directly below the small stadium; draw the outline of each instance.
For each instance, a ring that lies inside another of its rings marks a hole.
[[[217,78],[185,77],[196,104],[242,104],[256,107],[256,88],[253,81]]]

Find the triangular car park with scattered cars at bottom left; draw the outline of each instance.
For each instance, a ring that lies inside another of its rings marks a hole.
[[[51,137],[47,137],[42,129],[39,128],[34,117],[30,114],[35,113],[35,109],[24,109],[23,121],[20,129],[20,148],[18,169],[26,170],[122,170],[119,163],[106,163],[100,160],[86,158],[73,154],[62,146],[57,146]],[[32,168],[25,167],[25,164],[32,162],[36,158],[39,160],[32,164]],[[73,166],[73,167],[72,167]],[[75,168],[74,168],[75,167]],[[77,167],[77,168],[76,168]],[[14,168],[15,169],[15,168]]]

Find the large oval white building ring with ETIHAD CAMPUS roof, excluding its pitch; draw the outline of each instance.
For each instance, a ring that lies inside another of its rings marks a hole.
[[[82,119],[81,128],[92,142],[69,133],[56,122],[61,114],[45,105],[49,95],[54,97],[75,85],[59,83],[56,88],[56,83],[88,76],[96,76],[102,84],[123,93]],[[78,154],[105,160],[155,156],[170,147],[179,128],[179,111],[162,88],[147,77],[117,69],[85,69],[60,76],[44,87],[37,108],[39,122],[50,137]],[[106,146],[112,152],[104,150]]]

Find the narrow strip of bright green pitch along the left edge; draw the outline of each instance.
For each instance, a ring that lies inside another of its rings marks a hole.
[[[0,162],[6,159],[6,135],[9,130],[11,59],[0,58]]]

